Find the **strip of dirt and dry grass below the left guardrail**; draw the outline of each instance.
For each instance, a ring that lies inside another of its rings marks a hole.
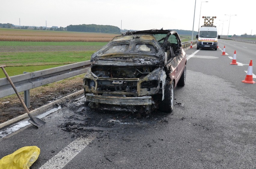
[[[31,89],[29,111],[83,89],[82,78],[83,75],[79,75]],[[23,92],[20,95],[24,99]],[[0,99],[0,124],[24,113],[26,111],[16,94]]]

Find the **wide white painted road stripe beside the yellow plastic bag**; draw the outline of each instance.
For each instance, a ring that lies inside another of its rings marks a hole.
[[[94,138],[77,138],[47,161],[40,169],[61,169],[80,153]]]

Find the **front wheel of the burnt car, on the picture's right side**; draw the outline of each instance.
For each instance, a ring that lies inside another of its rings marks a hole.
[[[165,90],[164,90],[164,100],[159,104],[159,110],[170,113],[174,108],[174,83],[173,81],[166,81]]]

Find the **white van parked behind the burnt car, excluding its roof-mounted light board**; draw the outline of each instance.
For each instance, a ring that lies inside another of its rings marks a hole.
[[[216,26],[201,26],[196,38],[197,50],[199,48],[213,48],[217,51],[218,39],[220,39],[221,36],[218,35]]]

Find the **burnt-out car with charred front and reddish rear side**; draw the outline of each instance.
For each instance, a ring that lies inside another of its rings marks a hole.
[[[94,109],[172,112],[174,89],[186,80],[186,54],[176,31],[126,32],[92,54],[91,62],[83,86]]]

